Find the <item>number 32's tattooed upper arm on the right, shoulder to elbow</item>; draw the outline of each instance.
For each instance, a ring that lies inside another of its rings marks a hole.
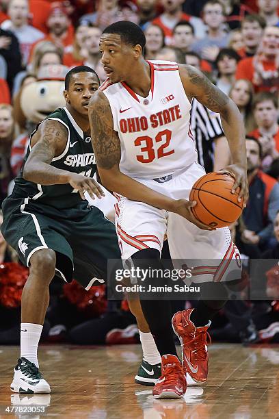
[[[189,84],[193,85],[193,96],[214,112],[224,112],[229,99],[211,81],[193,66],[184,66]]]

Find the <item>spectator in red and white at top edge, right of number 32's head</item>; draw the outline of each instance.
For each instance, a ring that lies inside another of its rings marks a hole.
[[[203,38],[205,36],[205,28],[202,20],[195,16],[183,13],[183,2],[184,0],[161,0],[164,12],[152,21],[152,23],[161,26],[163,29],[166,45],[172,43],[172,30],[179,21],[190,22],[191,25],[194,26],[197,38]]]

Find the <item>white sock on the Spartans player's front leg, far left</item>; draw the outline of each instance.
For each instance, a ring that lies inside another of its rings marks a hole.
[[[34,323],[21,323],[21,357],[34,362],[39,367],[37,351],[42,333],[42,325]]]

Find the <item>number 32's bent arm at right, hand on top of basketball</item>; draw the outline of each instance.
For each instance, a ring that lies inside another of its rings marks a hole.
[[[219,112],[224,133],[228,140],[233,164],[224,168],[225,173],[235,177],[233,190],[241,187],[239,200],[243,195],[248,199],[247,160],[245,149],[245,129],[237,105],[219,88],[193,66],[179,64],[179,74],[185,93],[191,101],[193,97],[213,112]]]

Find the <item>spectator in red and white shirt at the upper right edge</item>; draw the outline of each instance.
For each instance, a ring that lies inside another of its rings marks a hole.
[[[237,66],[236,79],[248,79],[255,92],[277,92],[279,88],[279,27],[268,26],[254,57],[244,58]]]

